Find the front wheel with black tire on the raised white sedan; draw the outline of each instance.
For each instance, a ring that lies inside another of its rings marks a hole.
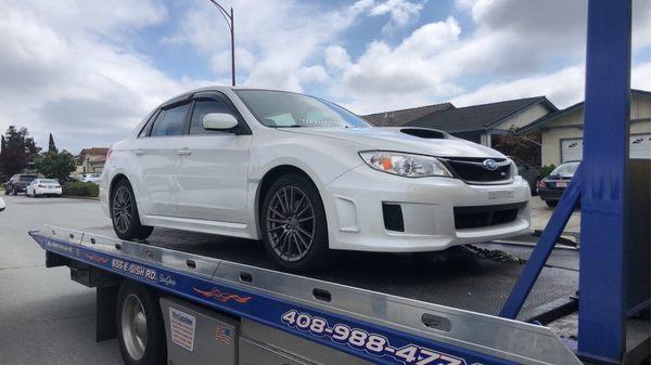
[[[301,194],[304,200],[298,198]],[[296,200],[291,203],[293,196],[296,196]],[[288,200],[282,198],[284,204],[280,203],[281,197]],[[289,209],[280,211],[280,207],[283,206],[284,209],[288,201]],[[305,213],[303,210],[307,205],[311,209]],[[303,216],[309,212],[312,214],[311,226],[309,219],[305,218],[307,216]],[[269,187],[260,209],[260,229],[267,253],[283,270],[307,272],[331,263],[323,201],[315,184],[301,174],[283,175]],[[309,234],[311,240],[307,242]]]

